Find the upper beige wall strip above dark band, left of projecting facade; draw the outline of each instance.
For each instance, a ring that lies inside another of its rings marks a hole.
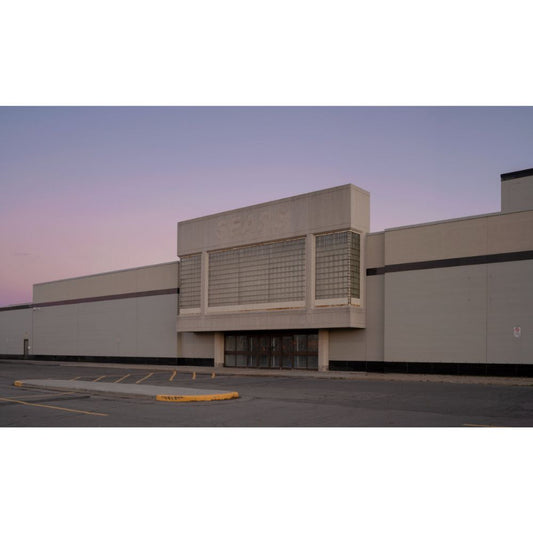
[[[33,286],[33,302],[57,302],[113,294],[170,289],[178,286],[178,263],[107,272]]]

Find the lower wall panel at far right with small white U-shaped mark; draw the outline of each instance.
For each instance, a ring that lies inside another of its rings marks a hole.
[[[487,362],[533,364],[533,261],[492,264],[488,275]]]

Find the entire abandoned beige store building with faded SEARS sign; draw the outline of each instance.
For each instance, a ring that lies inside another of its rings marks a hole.
[[[33,286],[2,357],[533,375],[533,169],[501,211],[370,233],[344,185],[178,224],[178,261]]]

